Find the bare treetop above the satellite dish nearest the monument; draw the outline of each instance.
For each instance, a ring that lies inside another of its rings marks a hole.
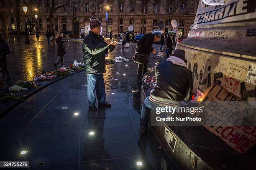
[[[173,20],[174,15],[180,12],[181,6],[180,0],[164,0],[162,2],[162,7],[168,13],[170,20]]]

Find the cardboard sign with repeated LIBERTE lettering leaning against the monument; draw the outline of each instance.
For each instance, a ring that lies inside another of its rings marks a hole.
[[[256,108],[248,101],[215,86],[205,96],[200,123],[238,153],[246,153],[256,143]],[[245,122],[246,121],[246,122]]]

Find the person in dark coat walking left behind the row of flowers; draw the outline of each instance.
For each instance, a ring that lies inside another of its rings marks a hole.
[[[56,39],[56,43],[58,44],[58,60],[56,60],[56,62],[54,62],[54,67],[57,70],[57,65],[59,64],[59,62],[61,63],[60,67],[62,67],[64,65],[64,59],[63,56],[64,54],[66,54],[66,47],[64,47],[64,41],[62,40],[63,34],[59,33],[58,37]]]

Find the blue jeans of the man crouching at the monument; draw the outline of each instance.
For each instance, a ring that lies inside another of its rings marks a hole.
[[[164,107],[157,105],[154,102],[151,102],[149,97],[147,97],[144,102],[141,109],[141,119],[140,119],[140,128],[141,130],[146,130],[148,128],[148,122],[149,122],[149,113],[150,109],[156,110],[156,107]]]

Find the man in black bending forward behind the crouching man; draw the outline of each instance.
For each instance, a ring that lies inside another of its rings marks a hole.
[[[154,42],[160,40],[159,35],[154,35],[152,33],[146,34],[138,41],[136,45],[136,54],[143,55],[146,57],[143,64],[138,64],[137,75],[138,77],[143,77],[143,75],[147,72],[147,64],[148,64],[148,57],[149,53],[152,52],[153,54],[156,53],[156,50],[152,47]],[[135,55],[136,55],[135,54]]]

